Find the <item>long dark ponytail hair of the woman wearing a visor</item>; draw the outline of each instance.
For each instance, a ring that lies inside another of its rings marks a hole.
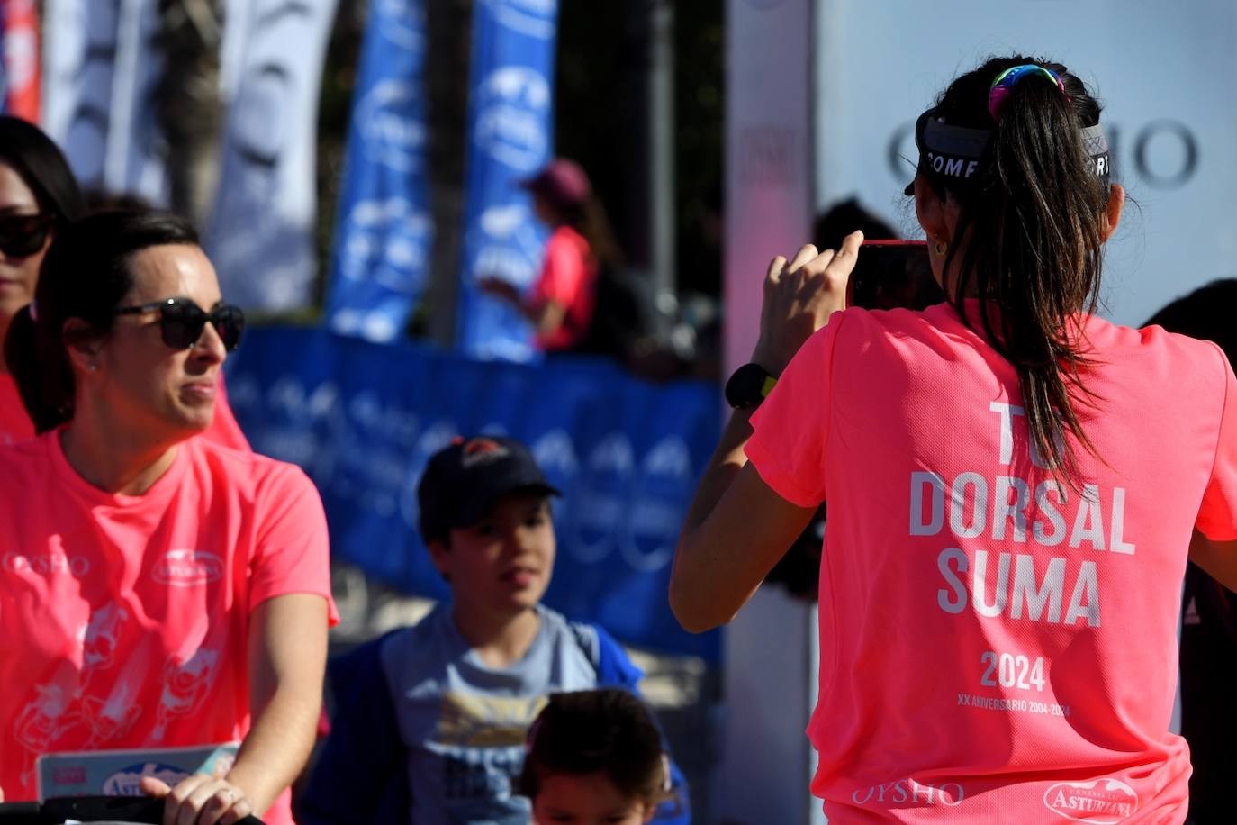
[[[988,90],[998,74],[1035,63],[1060,77],[1065,94],[1043,75],[1013,87],[999,119],[988,114]],[[977,179],[967,186],[929,181],[960,208],[956,240],[966,239],[960,280],[949,296],[967,325],[967,294],[990,344],[1018,374],[1032,444],[1064,470],[1071,486],[1077,458],[1064,427],[1091,454],[1075,411],[1098,400],[1082,385],[1094,361],[1070,319],[1095,310],[1102,268],[1107,204],[1105,179],[1092,174],[1080,131],[1100,122],[1100,104],[1059,63],[1023,56],[991,58],[954,80],[936,103],[936,118],[952,126],[991,130]],[[999,309],[999,312],[993,312]]]

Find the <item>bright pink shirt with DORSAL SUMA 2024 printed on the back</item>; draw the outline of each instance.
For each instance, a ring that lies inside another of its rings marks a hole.
[[[1237,538],[1237,387],[1213,344],[1085,319],[1084,494],[1037,466],[1013,369],[949,306],[834,314],[747,455],[828,500],[830,821],[1181,823],[1168,732],[1191,529]]]

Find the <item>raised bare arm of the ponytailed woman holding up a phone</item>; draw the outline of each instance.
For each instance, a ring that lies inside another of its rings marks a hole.
[[[862,240],[860,233],[849,235],[836,254],[804,246],[789,265],[781,256],[773,259],[752,361],[781,376],[804,341],[845,308],[846,281]],[[751,411],[742,409],[731,416],[675,548],[670,609],[691,632],[734,618],[819,503],[788,501],[747,465],[750,417]]]

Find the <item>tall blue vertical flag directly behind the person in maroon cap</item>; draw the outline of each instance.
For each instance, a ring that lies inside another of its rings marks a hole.
[[[527,289],[541,270],[546,229],[520,181],[550,158],[558,0],[477,0],[473,10],[468,184],[459,345],[474,357],[537,356],[532,328],[476,283]]]

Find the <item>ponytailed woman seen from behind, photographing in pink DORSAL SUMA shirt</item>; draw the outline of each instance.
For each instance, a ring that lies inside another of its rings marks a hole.
[[[1189,552],[1237,584],[1237,382],[1212,344],[1091,314],[1124,202],[1098,122],[1027,57],[919,118],[908,194],[948,303],[845,308],[857,233],[769,266],[670,604],[730,621],[828,500],[830,821],[1185,820],[1181,576]]]

